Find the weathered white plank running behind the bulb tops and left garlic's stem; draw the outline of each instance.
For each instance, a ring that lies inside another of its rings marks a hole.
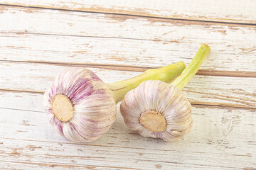
[[[67,67],[48,64],[1,62],[0,72],[4,74],[0,74],[0,89],[43,93],[53,84],[58,72],[65,68]],[[90,69],[106,83],[114,83],[142,74],[110,69]],[[196,75],[183,92],[192,103],[212,103],[213,105],[223,103],[223,105],[256,109],[255,84],[256,78]]]

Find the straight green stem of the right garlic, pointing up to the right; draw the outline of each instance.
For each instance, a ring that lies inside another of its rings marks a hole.
[[[178,89],[183,89],[186,84],[192,79],[192,77],[196,74],[199,67],[203,63],[203,61],[206,59],[206,56],[210,52],[210,47],[206,44],[202,44],[199,48],[198,52],[196,52],[195,57],[193,57],[193,60],[190,64],[188,64],[188,67],[183,70],[181,75],[177,77],[171,84],[178,87]]]

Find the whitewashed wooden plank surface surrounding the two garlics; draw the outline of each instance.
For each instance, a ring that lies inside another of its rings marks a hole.
[[[48,124],[43,92],[65,67],[107,83],[211,52],[183,90],[193,129],[177,142],[117,120],[96,142]],[[0,1],[0,169],[256,169],[256,1]]]

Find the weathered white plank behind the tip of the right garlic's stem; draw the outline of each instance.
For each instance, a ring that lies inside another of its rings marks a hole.
[[[246,36],[254,37],[249,34]],[[0,35],[0,53],[2,61],[159,67],[181,60],[188,64],[201,42],[208,42],[211,47],[210,55],[201,69],[256,72],[256,50],[250,41],[238,44],[240,41],[212,42],[210,39],[197,39],[184,43],[165,44],[156,41],[115,38],[2,34]],[[241,49],[244,51],[242,52]]]

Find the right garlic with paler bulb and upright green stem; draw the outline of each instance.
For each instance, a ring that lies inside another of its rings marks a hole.
[[[188,81],[196,74],[210,52],[201,45],[191,63],[171,84],[147,80],[129,91],[120,106],[124,123],[144,137],[178,140],[192,128],[191,103],[182,94]]]

